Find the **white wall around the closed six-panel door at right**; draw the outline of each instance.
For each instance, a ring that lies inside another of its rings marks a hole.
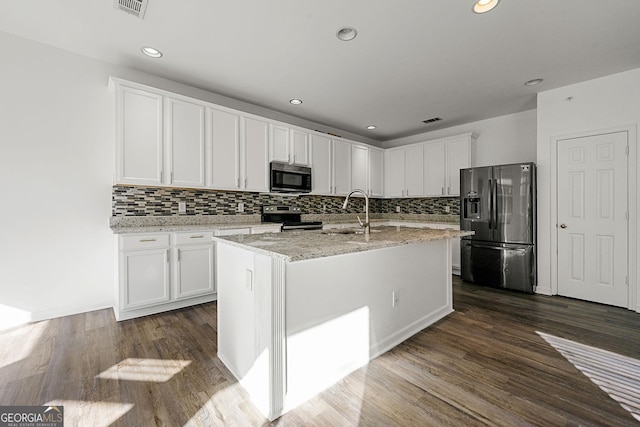
[[[571,98],[571,99],[568,99]],[[619,126],[637,128],[640,122],[640,69],[614,74],[538,94],[538,290],[556,293],[551,286],[551,145],[553,138]],[[637,135],[637,132],[636,132]],[[631,152],[637,152],[637,141],[629,141]],[[636,194],[640,185],[631,182]],[[630,206],[631,211],[638,212]],[[631,224],[635,229],[636,224]],[[631,236],[637,239],[637,236]],[[633,240],[632,240],[633,242]],[[640,260],[632,260],[638,264]],[[631,285],[636,283],[630,277]],[[640,303],[638,304],[640,307]]]

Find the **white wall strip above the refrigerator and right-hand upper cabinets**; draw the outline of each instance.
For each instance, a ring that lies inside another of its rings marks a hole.
[[[536,110],[394,139],[385,142],[384,146],[385,148],[398,147],[467,132],[478,134],[472,166],[536,160]]]

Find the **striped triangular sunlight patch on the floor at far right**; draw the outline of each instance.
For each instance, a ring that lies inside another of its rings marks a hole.
[[[537,334],[640,420],[640,360],[543,332]]]

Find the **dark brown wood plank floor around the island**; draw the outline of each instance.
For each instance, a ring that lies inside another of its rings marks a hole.
[[[541,333],[640,359],[639,314],[455,276],[454,305],[274,424],[638,425]],[[268,424],[215,354],[215,303],[39,322],[0,333],[0,405],[63,404],[68,426]],[[631,388],[626,398],[640,401]]]

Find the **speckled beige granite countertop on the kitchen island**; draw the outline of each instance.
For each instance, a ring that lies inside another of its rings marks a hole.
[[[302,261],[411,243],[470,236],[473,231],[381,226],[364,234],[343,234],[344,230],[288,231],[278,234],[216,237],[215,240],[286,261]],[[360,231],[360,230],[358,230]]]

